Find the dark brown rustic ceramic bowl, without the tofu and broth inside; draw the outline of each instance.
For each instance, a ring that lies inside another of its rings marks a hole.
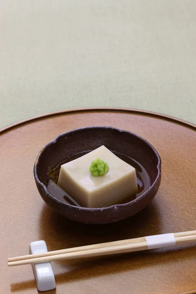
[[[47,190],[49,178],[58,178],[60,165],[104,145],[117,154],[137,160],[146,170],[150,185],[134,200],[105,208],[85,208],[67,204]],[[54,211],[73,221],[104,224],[121,221],[145,208],[156,195],[161,181],[161,159],[145,139],[114,127],[83,127],[59,135],[39,152],[34,165],[37,188]]]

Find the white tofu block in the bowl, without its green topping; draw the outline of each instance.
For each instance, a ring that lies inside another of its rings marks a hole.
[[[103,176],[89,172],[93,160],[106,161],[109,170]],[[63,164],[57,183],[83,207],[104,207],[138,191],[135,169],[105,146]]]

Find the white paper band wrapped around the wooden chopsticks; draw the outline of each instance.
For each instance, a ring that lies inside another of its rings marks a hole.
[[[145,238],[147,240],[147,249],[155,249],[175,245],[175,237],[173,233],[147,236]]]

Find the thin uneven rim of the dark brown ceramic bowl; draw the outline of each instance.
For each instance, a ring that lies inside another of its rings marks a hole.
[[[76,133],[76,132],[80,132],[82,130],[95,130],[95,129],[112,129],[112,130],[115,130],[115,131],[120,132],[120,133],[128,133],[130,135],[133,135],[133,136],[137,137],[141,141],[143,141],[145,144],[148,145],[148,147],[150,147],[153,150],[154,154],[156,155],[156,157],[158,159],[158,163],[157,163],[157,167],[156,167],[158,173],[157,173],[156,179],[154,180],[153,184],[147,189],[147,191],[144,194],[140,195],[139,197],[137,197],[137,198],[135,198],[135,199],[133,199],[133,200],[131,200],[129,202],[123,203],[123,204],[113,204],[113,205],[107,206],[107,207],[96,207],[96,208],[78,207],[78,206],[63,202],[63,201],[57,199],[56,197],[52,196],[49,193],[46,185],[39,180],[38,175],[37,175],[37,166],[38,166],[38,163],[39,163],[39,159],[40,159],[42,153],[44,152],[44,150],[46,148],[48,148],[49,146],[51,146],[53,144],[56,144],[56,142],[61,137],[64,137],[66,135],[73,134],[73,133]],[[98,212],[98,211],[103,211],[103,210],[107,211],[107,210],[113,209],[114,207],[115,208],[124,207],[124,206],[127,206],[130,203],[139,202],[143,198],[145,198],[154,189],[154,187],[157,185],[157,183],[159,182],[159,179],[161,177],[161,157],[160,157],[159,153],[157,152],[157,150],[146,139],[144,139],[143,137],[141,137],[141,136],[139,136],[139,135],[137,135],[137,134],[135,134],[135,133],[133,133],[131,131],[119,129],[119,128],[113,127],[113,126],[85,126],[85,127],[80,127],[80,128],[76,128],[76,129],[69,130],[67,132],[61,133],[56,138],[54,138],[52,141],[47,143],[44,147],[42,147],[42,149],[39,151],[39,153],[37,155],[37,158],[36,158],[36,161],[35,161],[35,164],[34,164],[34,168],[33,168],[33,174],[34,174],[35,181],[41,187],[41,190],[44,190],[44,192],[47,194],[47,196],[49,196],[49,198],[51,200],[54,200],[58,204],[65,205],[65,206],[67,206],[69,208],[74,208],[75,210],[79,210],[79,211],[81,211],[81,210],[83,210],[83,211],[91,211],[91,212]]]

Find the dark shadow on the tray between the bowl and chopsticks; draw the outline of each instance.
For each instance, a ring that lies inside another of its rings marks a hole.
[[[162,230],[156,200],[145,209],[123,221],[111,224],[83,224],[55,213],[44,205],[39,220],[40,240],[48,250],[111,242],[158,234]]]

